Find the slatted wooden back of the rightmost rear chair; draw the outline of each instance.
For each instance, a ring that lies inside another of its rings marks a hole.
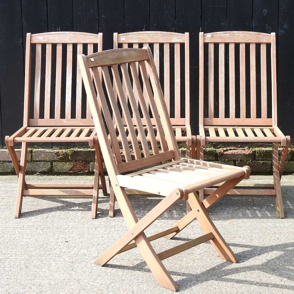
[[[277,126],[275,33],[200,33],[199,41],[199,124]]]

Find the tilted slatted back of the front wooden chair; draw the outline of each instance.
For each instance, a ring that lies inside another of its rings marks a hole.
[[[112,174],[179,158],[178,145],[149,47],[112,49],[88,56],[80,55],[78,61],[103,159],[112,183],[116,182],[115,178],[111,178]],[[93,81],[90,69],[93,72]],[[102,76],[99,69],[102,71]],[[103,91],[103,86],[106,91]],[[123,87],[126,89],[126,94]],[[146,89],[151,114],[146,107],[143,88]],[[140,112],[144,114],[146,130]],[[156,136],[159,137],[159,144]],[[112,172],[109,170],[111,166]]]

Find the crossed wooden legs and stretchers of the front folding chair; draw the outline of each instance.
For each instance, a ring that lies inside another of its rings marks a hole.
[[[222,259],[234,263],[238,262],[238,258],[216,229],[212,220],[208,216],[206,209],[218,201],[223,195],[225,195],[225,193],[227,193],[227,191],[233,188],[240,181],[241,178],[234,178],[226,181],[202,203],[199,200],[196,192],[188,194],[185,193],[185,191],[182,189],[176,189],[168,196],[163,198],[163,200],[161,200],[139,221],[133,211],[125,189],[118,186],[113,187],[118,204],[121,208],[121,212],[129,230],[110,248],[108,248],[108,250],[106,250],[99,258],[97,258],[94,263],[103,266],[108,263],[108,261],[111,260],[115,255],[138,247],[141,255],[157,279],[158,283],[164,288],[178,291],[178,285],[168,273],[161,260],[176,255],[209,240]],[[189,205],[191,206],[191,211],[173,227],[147,238],[144,230],[179,200],[188,200]],[[189,225],[193,220],[198,221],[199,225],[205,233],[204,235],[156,254],[150,244],[152,240],[156,240],[164,236],[167,236],[167,238],[172,238],[174,235],[183,230],[183,228]]]

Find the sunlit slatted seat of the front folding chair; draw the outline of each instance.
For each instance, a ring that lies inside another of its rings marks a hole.
[[[118,175],[125,188],[167,196],[173,190],[187,189],[188,193],[240,177],[249,178],[249,167],[236,167],[189,158],[156,167]]]

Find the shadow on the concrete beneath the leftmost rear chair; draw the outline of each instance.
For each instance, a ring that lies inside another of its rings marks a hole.
[[[39,216],[46,213],[52,213],[56,211],[89,211],[91,213],[92,208],[92,198],[86,198],[87,201],[85,202],[73,202],[74,199],[85,199],[85,197],[75,197],[70,198],[71,201],[68,201],[69,197],[35,197],[35,199],[41,199],[45,201],[50,201],[53,203],[58,203],[61,205],[47,207],[47,208],[40,208],[32,211],[26,211],[21,213],[20,218],[29,218],[32,216]],[[108,209],[102,209],[99,207],[99,204],[108,203],[109,198],[106,196],[98,197],[98,211],[96,215],[96,219],[98,218],[105,218],[108,217]]]

